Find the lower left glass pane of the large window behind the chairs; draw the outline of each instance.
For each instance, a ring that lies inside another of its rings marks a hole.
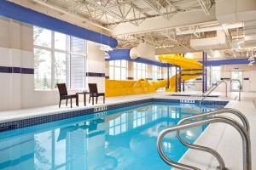
[[[35,88],[51,88],[51,55],[50,51],[34,48]]]

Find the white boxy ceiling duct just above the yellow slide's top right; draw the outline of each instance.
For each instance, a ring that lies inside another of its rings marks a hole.
[[[217,31],[216,37],[207,37],[201,39],[191,39],[190,47],[195,50],[208,50],[208,49],[224,49],[228,48],[226,35],[224,31]]]

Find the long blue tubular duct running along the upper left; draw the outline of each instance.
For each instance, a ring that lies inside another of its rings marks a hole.
[[[112,48],[115,48],[118,44],[117,40],[112,37],[108,37],[99,32],[91,31],[80,26],[75,26],[63,20],[55,19],[49,15],[8,2],[7,0],[0,1],[0,15],[14,20],[20,20],[21,22],[32,24],[34,26],[59,31],[74,37],[84,38],[92,42],[102,43]]]

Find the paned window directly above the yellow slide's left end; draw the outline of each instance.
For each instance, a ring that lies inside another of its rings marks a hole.
[[[109,79],[126,80],[128,62],[126,60],[109,61]]]

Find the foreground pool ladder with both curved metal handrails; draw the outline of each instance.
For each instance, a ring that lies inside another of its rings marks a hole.
[[[240,122],[236,122],[234,119],[230,117],[220,116],[221,114],[224,114],[224,113],[231,113],[237,116],[241,120],[242,124]],[[223,122],[223,123],[229,124],[230,126],[235,127],[236,130],[240,133],[241,139],[242,139],[243,170],[252,170],[249,123],[247,121],[246,116],[244,116],[240,111],[236,111],[230,108],[224,108],[216,111],[208,111],[195,116],[188,116],[183,118],[180,122],[178,122],[177,126],[167,127],[166,129],[162,130],[157,139],[157,149],[160,154],[160,157],[162,158],[163,161],[166,161],[167,164],[177,169],[201,170],[200,168],[197,168],[197,167],[192,167],[183,163],[172,161],[170,158],[168,158],[164,154],[164,151],[162,148],[163,138],[166,136],[167,133],[177,132],[177,138],[180,140],[182,144],[189,147],[190,149],[206,151],[212,154],[212,156],[214,156],[218,160],[218,164],[219,164],[218,169],[220,170],[228,169],[225,167],[224,159],[218,154],[216,150],[212,150],[212,148],[208,148],[206,146],[190,144],[181,137],[179,132],[180,130],[188,129],[190,127],[198,127],[204,124],[212,124],[216,122]]]

